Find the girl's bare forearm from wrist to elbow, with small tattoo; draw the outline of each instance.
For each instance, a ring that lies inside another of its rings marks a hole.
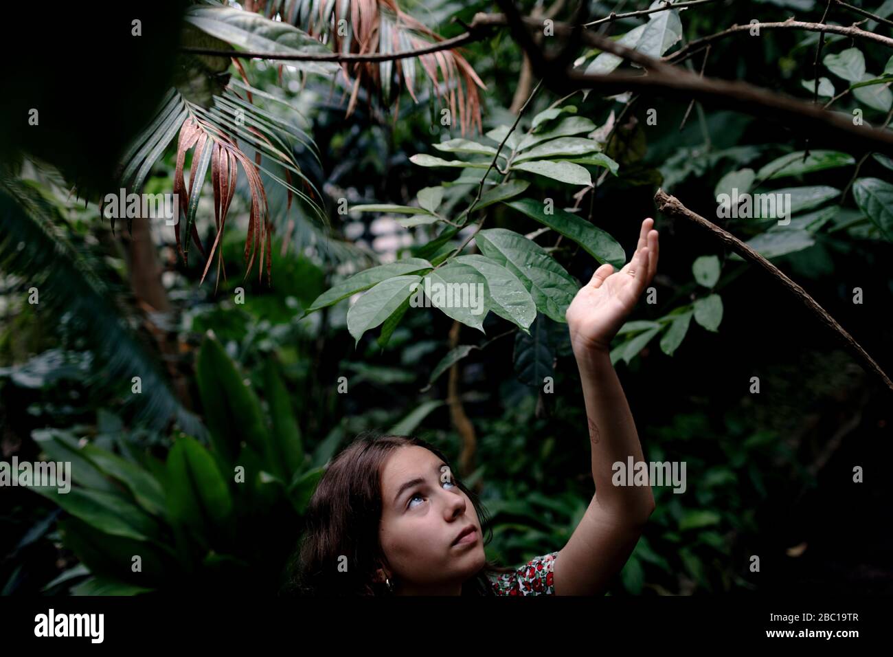
[[[655,507],[650,485],[616,486],[613,464],[644,461],[636,424],[611,358],[603,350],[575,350],[586,404],[592,478],[598,506],[617,518],[644,522]],[[632,473],[627,473],[631,477]],[[630,483],[628,478],[627,482]]]

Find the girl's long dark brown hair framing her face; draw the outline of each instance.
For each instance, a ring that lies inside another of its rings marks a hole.
[[[416,445],[435,454],[455,472],[444,454],[411,436],[364,432],[333,459],[307,507],[305,533],[297,553],[292,591],[303,595],[388,595],[384,583],[373,581],[384,561],[379,542],[380,473],[388,456],[400,447]],[[484,544],[493,537],[487,510],[455,474],[454,483],[468,495],[487,527]],[[346,569],[344,568],[346,566]],[[339,568],[340,567],[340,568]],[[463,595],[492,595],[488,574],[511,572],[485,562],[463,583]]]

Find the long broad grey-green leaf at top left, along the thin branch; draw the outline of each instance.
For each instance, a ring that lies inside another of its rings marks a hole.
[[[331,55],[327,46],[287,21],[271,21],[259,13],[232,7],[193,6],[188,9],[185,20],[213,37],[249,51],[277,55]],[[281,63],[322,75],[334,75],[339,69],[334,62],[281,60]]]

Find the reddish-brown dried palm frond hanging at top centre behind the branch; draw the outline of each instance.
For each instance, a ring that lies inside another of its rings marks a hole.
[[[282,0],[246,4],[246,9],[251,8],[263,11],[269,18],[278,15],[281,21],[304,29],[322,43],[330,43],[332,50],[342,55],[417,50],[444,40],[402,11],[396,0]],[[355,109],[360,87],[378,93],[386,103],[398,99],[396,89],[392,88],[395,77],[418,102],[414,88],[416,60],[438,98],[444,93],[450,114],[458,119],[463,136],[472,126],[480,132],[478,88],[487,87],[457,50],[380,63],[343,63],[342,73],[353,85],[347,114]]]

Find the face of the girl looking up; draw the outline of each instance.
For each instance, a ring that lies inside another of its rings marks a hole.
[[[399,594],[460,594],[486,556],[472,501],[431,451],[408,445],[381,471],[379,539]],[[471,534],[457,539],[463,531]]]

